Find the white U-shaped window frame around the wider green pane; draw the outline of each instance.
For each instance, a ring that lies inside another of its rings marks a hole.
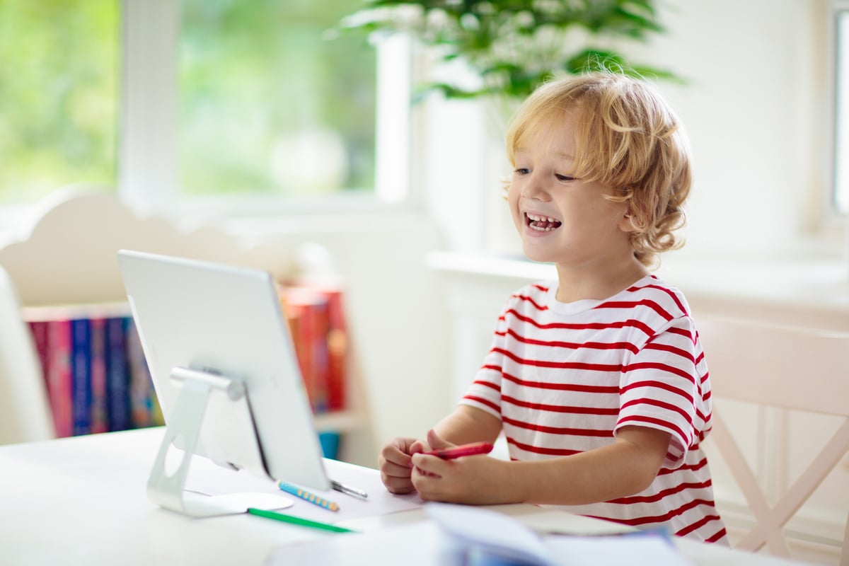
[[[278,216],[409,209],[412,46],[391,36],[378,57],[374,191],[285,198],[252,195],[183,197],[178,183],[177,76],[179,3],[121,0],[119,198],[138,210],[209,217]]]

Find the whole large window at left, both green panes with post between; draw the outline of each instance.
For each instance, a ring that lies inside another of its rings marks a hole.
[[[361,6],[0,3],[0,49],[22,62],[0,69],[0,204],[74,182],[160,209],[210,198],[264,212],[328,195],[374,202],[389,185],[397,199],[406,179],[375,161],[390,149],[388,160],[407,162],[408,105],[389,105],[387,118],[376,97],[386,81],[405,96],[408,62],[334,36]],[[395,66],[379,73],[381,61]]]

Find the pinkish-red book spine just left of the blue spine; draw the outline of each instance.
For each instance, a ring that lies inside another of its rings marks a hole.
[[[48,342],[48,398],[53,412],[53,426],[57,436],[70,436],[74,434],[70,320],[48,321]]]

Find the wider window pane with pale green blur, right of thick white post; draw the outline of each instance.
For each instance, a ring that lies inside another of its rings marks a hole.
[[[183,193],[373,190],[374,48],[329,31],[358,3],[183,0]]]

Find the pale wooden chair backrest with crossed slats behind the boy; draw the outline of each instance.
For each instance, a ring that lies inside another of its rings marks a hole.
[[[754,528],[736,546],[751,551],[767,546],[768,552],[789,556],[784,525],[849,451],[849,333],[720,317],[697,317],[697,326],[715,399],[708,440],[717,447],[755,518]],[[735,441],[735,431],[722,419],[723,399],[834,415],[840,425],[828,440],[811,439],[815,446],[824,441],[822,450],[795,481],[780,493],[769,494],[775,497],[770,504],[764,485]],[[841,566],[849,566],[849,522],[843,531]]]

